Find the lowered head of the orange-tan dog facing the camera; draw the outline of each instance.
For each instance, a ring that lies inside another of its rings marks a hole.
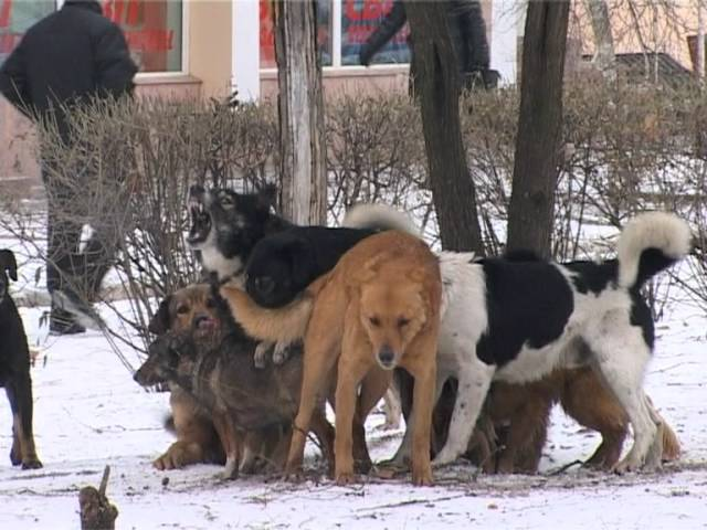
[[[424,273],[376,273],[360,285],[360,319],[376,361],[384,370],[400,363],[408,346],[428,321]]]

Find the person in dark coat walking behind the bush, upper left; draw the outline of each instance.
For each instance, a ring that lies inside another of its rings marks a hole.
[[[94,97],[131,94],[136,73],[123,31],[103,15],[101,4],[95,0],[66,0],[62,9],[31,26],[0,66],[0,93],[34,121],[55,121],[61,139],[71,146],[76,141],[68,127],[72,107]],[[49,202],[50,331],[74,333],[85,329],[66,308],[91,312],[83,300],[97,296],[113,252],[96,237],[80,252],[83,225],[72,210],[77,203],[73,191],[76,186],[62,183],[53,174],[52,161],[43,159],[42,180]],[[83,170],[75,178],[89,176]],[[85,296],[78,296],[77,285],[87,287]]]

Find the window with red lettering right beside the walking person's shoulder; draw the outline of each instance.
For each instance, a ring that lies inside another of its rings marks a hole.
[[[140,72],[182,71],[181,0],[106,0],[103,12],[123,29]]]

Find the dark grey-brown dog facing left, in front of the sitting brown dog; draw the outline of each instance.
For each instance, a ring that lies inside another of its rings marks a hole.
[[[192,286],[182,290],[209,289]],[[214,301],[218,304],[218,301]],[[141,384],[167,380],[189,392],[209,411],[226,455],[224,477],[252,473],[256,457],[282,468],[289,445],[289,424],[296,413],[302,381],[302,357],[282,367],[255,370],[255,342],[231,321],[228,309],[213,317],[217,333],[194,332],[203,326],[194,316],[191,332],[169,331],[150,346],[150,356],[136,374]],[[211,325],[210,325],[211,327]],[[147,379],[152,374],[152,379]],[[333,433],[323,407],[313,431],[328,462],[333,462]]]

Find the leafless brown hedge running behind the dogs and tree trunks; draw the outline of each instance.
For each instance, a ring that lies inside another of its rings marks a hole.
[[[485,243],[489,253],[499,253],[518,93],[507,88],[464,97],[463,135]],[[605,232],[598,227],[620,227],[645,209],[680,213],[706,247],[707,106],[701,100],[689,87],[684,93],[621,84],[567,87],[556,191],[558,259],[610,255],[613,242],[604,241]],[[275,114],[266,104],[234,108],[219,102],[154,99],[76,109],[72,127],[77,141],[68,147],[52,127],[44,130],[43,157],[51,162],[51,178],[71,188],[77,201],[78,208],[63,214],[93,226],[117,250],[118,293],[108,293],[107,306],[125,329],[110,330],[114,337],[141,348],[136,331],[144,333],[155,296],[197,277],[183,237],[189,184],[249,190],[273,180],[278,160]],[[407,97],[390,94],[329,104],[331,220],[356,202],[382,201],[414,212],[429,239],[436,240],[419,116]],[[6,211],[9,216],[0,219],[4,227],[28,241],[38,235],[36,219]],[[585,246],[588,241],[591,246]],[[42,252],[41,245],[35,252]],[[651,286],[656,312],[676,280],[686,282],[693,297],[707,307],[701,256],[690,259],[686,277]]]

